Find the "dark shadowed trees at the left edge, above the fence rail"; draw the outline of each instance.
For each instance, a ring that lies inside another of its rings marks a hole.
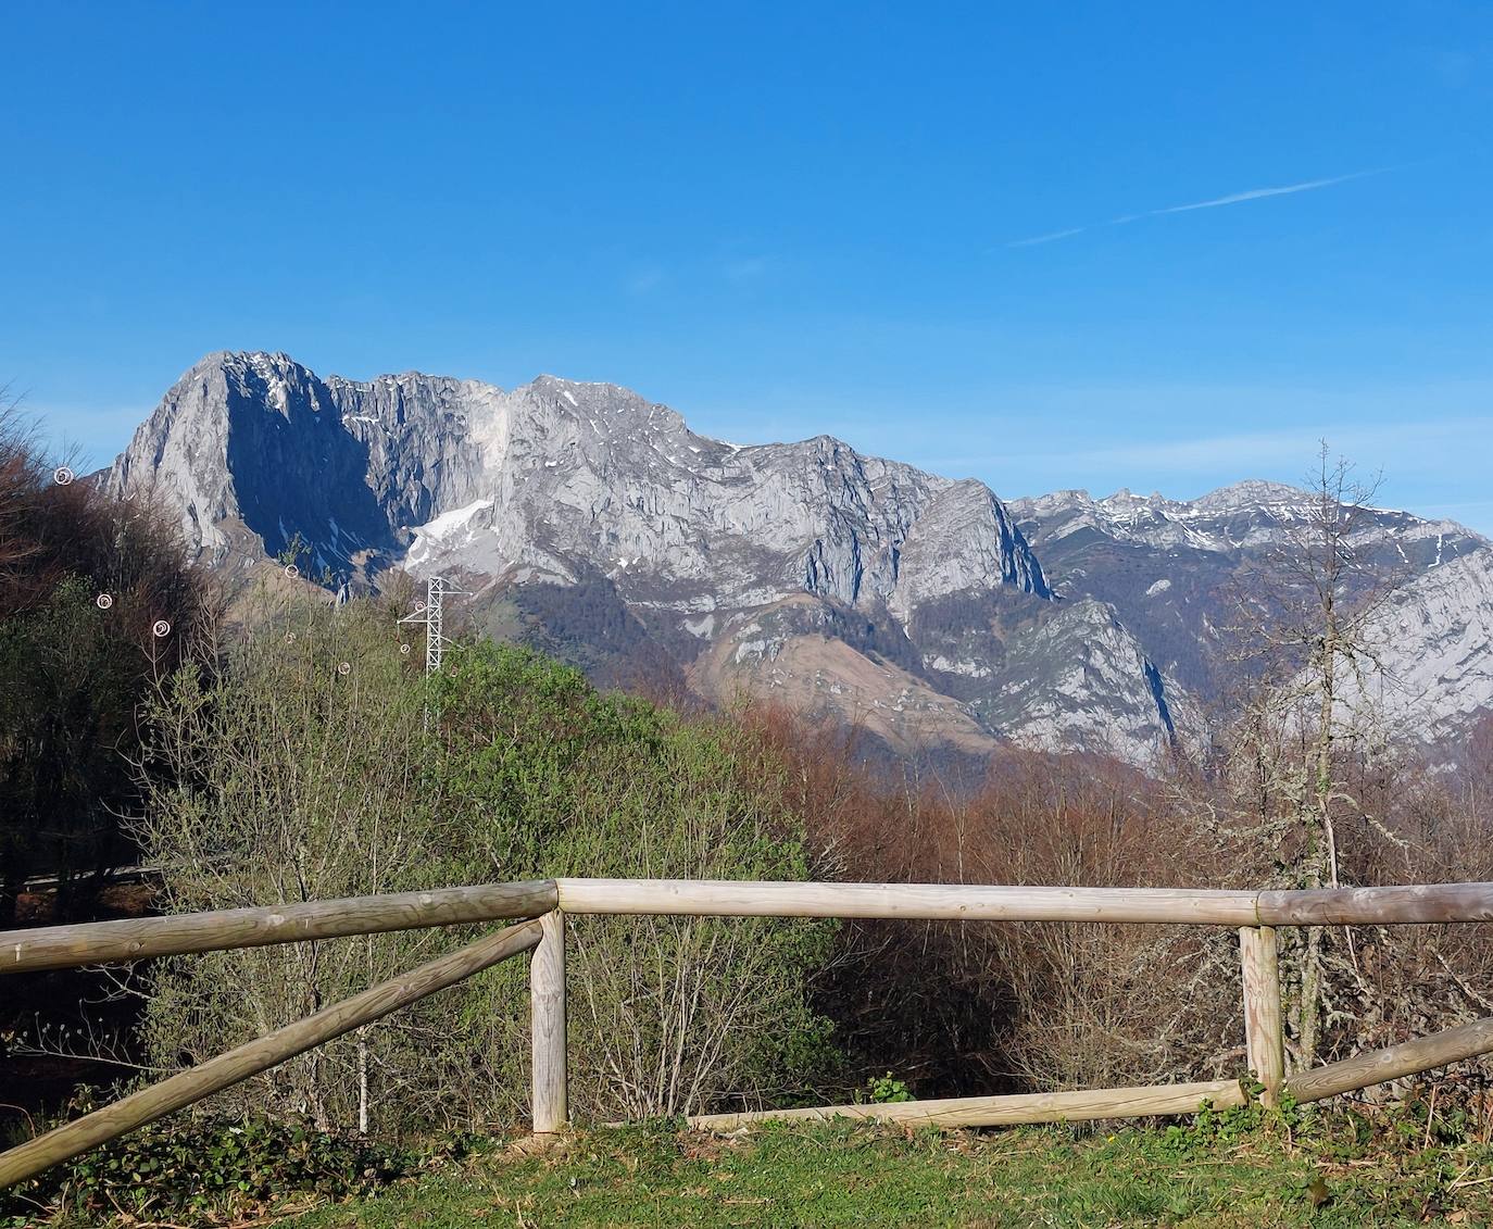
[[[75,481],[0,406],[0,926],[28,877],[60,877],[82,914],[133,860],[140,702],[216,611],[146,503]]]

